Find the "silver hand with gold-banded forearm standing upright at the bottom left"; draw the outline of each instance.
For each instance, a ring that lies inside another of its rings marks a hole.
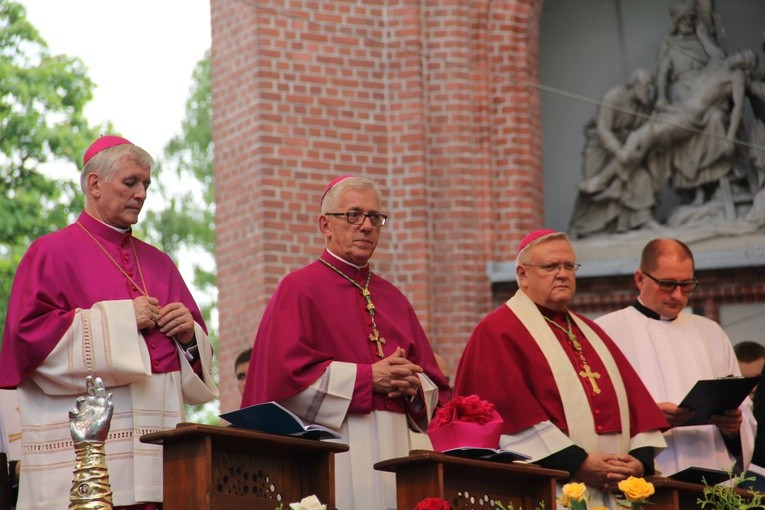
[[[87,393],[69,410],[69,429],[77,457],[69,510],[111,510],[112,490],[104,444],[114,405],[100,377],[85,379]]]

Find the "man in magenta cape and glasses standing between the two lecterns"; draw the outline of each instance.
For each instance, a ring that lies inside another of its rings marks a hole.
[[[369,259],[387,216],[365,177],[327,186],[319,230],[324,253],[285,276],[266,307],[242,406],[278,401],[342,434],[335,456],[336,506],[396,507],[395,475],[379,460],[429,445],[423,431],[450,397],[414,309]]]

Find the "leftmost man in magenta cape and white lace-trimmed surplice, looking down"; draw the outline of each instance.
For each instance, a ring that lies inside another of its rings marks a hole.
[[[96,140],[83,158],[85,210],[19,264],[0,349],[0,387],[18,387],[21,412],[19,510],[67,509],[68,412],[87,375],[113,394],[115,509],[161,508],[162,447],[139,438],[217,395],[199,308],[170,257],[132,235],[153,164],[124,138]]]

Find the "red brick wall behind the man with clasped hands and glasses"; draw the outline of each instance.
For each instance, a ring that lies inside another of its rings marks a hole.
[[[321,252],[319,199],[341,174],[380,182],[373,268],[456,366],[492,306],[487,263],[542,222],[541,1],[211,9],[221,409],[276,284]]]

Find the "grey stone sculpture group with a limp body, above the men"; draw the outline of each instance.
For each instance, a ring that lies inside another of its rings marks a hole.
[[[668,227],[752,224],[755,213],[747,213],[762,187],[765,153],[734,140],[749,136],[754,147],[765,142],[762,120],[743,122],[747,95],[755,116],[765,115],[765,70],[750,50],[726,56],[713,0],[680,0],[670,14],[672,31],[657,57],[655,101],[630,101],[636,75],[645,73],[636,71],[626,86],[606,93],[594,131],[592,121],[586,128],[573,237],[659,227],[655,206],[665,186],[679,198]],[[609,122],[615,126],[610,134]]]

